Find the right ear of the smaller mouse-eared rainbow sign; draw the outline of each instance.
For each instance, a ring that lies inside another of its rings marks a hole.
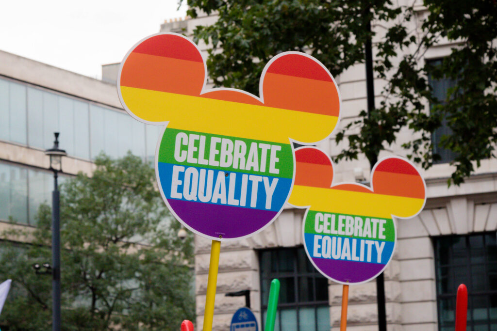
[[[375,165],[371,174],[375,194],[393,196],[392,215],[409,218],[416,215],[426,201],[426,185],[414,165],[400,157],[388,157]]]

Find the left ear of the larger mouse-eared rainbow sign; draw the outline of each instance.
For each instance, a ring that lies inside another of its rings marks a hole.
[[[140,41],[126,55],[117,90],[134,118],[149,124],[165,122],[169,120],[169,93],[199,96],[205,73],[205,63],[193,42],[175,33],[157,34]],[[158,107],[159,100],[163,107]]]

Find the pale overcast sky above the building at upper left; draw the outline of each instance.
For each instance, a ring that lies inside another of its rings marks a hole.
[[[101,77],[166,19],[184,17],[177,0],[0,0],[0,50]]]

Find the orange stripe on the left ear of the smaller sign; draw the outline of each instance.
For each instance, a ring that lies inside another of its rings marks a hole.
[[[330,188],[333,180],[331,165],[297,162],[295,185]]]

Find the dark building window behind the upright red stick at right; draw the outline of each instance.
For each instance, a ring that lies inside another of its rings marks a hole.
[[[435,249],[438,328],[454,330],[459,284],[468,287],[468,329],[497,330],[496,233],[437,237]]]

